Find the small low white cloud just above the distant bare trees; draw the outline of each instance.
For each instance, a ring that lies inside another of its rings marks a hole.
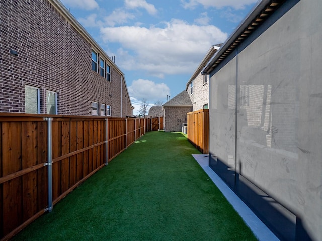
[[[165,83],[158,84],[147,79],[133,80],[131,86],[128,87],[128,91],[133,98],[133,102],[145,98],[150,104],[170,95],[170,89]]]

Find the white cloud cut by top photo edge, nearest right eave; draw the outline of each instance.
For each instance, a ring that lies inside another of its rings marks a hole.
[[[193,9],[201,4],[205,8],[233,7],[234,9],[244,9],[245,5],[254,4],[257,0],[181,0],[185,9]]]

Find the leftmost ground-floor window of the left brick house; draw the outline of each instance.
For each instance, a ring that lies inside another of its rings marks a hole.
[[[25,85],[25,112],[27,114],[40,114],[39,88]]]

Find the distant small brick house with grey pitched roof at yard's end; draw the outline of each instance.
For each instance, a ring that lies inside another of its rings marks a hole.
[[[192,111],[192,103],[187,91],[182,91],[163,105],[164,129],[167,132],[181,132],[187,123],[187,113]]]

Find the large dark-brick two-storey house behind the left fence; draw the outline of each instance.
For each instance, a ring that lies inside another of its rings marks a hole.
[[[4,1],[0,23],[0,112],[132,116],[124,74],[60,1]]]

